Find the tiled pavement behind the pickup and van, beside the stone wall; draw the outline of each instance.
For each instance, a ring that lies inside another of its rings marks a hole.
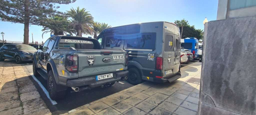
[[[201,63],[183,67],[181,72],[182,77],[173,83],[144,82],[63,115],[196,115]]]

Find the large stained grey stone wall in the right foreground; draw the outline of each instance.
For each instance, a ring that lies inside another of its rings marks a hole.
[[[256,115],[256,16],[208,22],[199,115]]]

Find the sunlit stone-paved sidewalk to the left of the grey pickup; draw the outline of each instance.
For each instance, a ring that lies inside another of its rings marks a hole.
[[[0,62],[0,115],[51,115],[20,64]]]

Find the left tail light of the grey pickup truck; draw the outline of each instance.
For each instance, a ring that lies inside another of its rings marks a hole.
[[[77,72],[78,56],[67,54],[65,60],[65,68],[70,72]]]

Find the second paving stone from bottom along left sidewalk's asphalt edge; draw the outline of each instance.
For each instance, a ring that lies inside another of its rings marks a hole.
[[[30,100],[37,99],[37,98],[40,98],[40,94],[38,93],[38,91],[20,94],[20,100],[22,102],[30,101]]]

